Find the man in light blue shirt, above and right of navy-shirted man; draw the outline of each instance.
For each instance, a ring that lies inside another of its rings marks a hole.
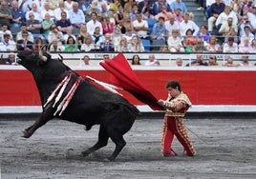
[[[71,0],[65,1],[64,3],[72,2]],[[66,5],[65,4],[65,5]],[[85,24],[85,16],[82,10],[78,9],[78,3],[74,2],[72,3],[73,9],[69,11],[70,13],[70,21],[74,28],[80,28],[81,25]],[[87,28],[88,29],[88,28]]]

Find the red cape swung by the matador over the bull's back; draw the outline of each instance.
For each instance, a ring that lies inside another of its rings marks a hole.
[[[99,64],[112,74],[110,83],[129,91],[151,109],[164,110],[158,104],[158,99],[139,81],[139,78],[122,53],[117,54],[113,59],[102,61]]]

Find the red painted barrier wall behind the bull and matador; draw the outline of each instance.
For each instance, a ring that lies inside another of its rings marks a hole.
[[[76,70],[108,82],[105,70]],[[142,83],[157,98],[166,98],[165,83],[181,82],[194,105],[256,105],[256,70],[135,70]],[[129,93],[124,97],[142,105]],[[0,106],[38,106],[40,99],[28,70],[0,70]]]

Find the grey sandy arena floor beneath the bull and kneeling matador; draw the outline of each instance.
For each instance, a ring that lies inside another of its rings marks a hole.
[[[98,126],[85,131],[75,123],[53,120],[30,139],[20,137],[31,120],[0,120],[0,179],[161,179],[256,178],[255,119],[185,119],[197,149],[195,157],[160,155],[161,119],[139,119],[124,136],[125,148],[115,162],[104,162],[114,149],[88,157],[80,152],[93,146]],[[195,135],[196,133],[196,135]]]

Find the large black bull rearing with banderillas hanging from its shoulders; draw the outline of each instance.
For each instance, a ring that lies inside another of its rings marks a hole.
[[[32,72],[43,105],[40,117],[31,127],[23,130],[23,137],[31,137],[36,129],[55,117],[85,125],[88,130],[94,125],[99,125],[96,145],[82,151],[82,155],[86,156],[106,146],[108,139],[111,138],[116,144],[116,149],[108,159],[115,160],[126,145],[123,134],[132,128],[137,115],[140,114],[139,109],[120,95],[99,89],[90,80],[81,79],[75,71],[61,61],[52,59],[46,52],[42,55],[38,51],[19,51],[18,57],[20,59],[18,63]],[[66,80],[67,86],[57,100],[57,94],[61,93],[61,88],[57,89],[57,87],[67,76],[70,80]],[[77,89],[74,89],[74,95],[70,95],[66,100],[70,100],[67,108],[63,111],[58,110],[58,107],[63,106],[61,101],[65,101],[65,97],[69,95],[75,83],[78,84]],[[53,91],[56,95],[53,95]],[[53,99],[49,100],[51,95]]]

